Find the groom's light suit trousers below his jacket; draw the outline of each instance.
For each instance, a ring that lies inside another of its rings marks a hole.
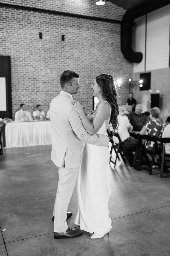
[[[59,180],[53,211],[55,217],[54,232],[64,232],[68,228],[66,222],[67,209],[76,185],[79,167],[66,169],[62,165],[61,168],[57,168]]]

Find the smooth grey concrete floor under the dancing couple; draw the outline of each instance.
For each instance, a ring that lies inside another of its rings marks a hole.
[[[0,157],[0,256],[169,256],[170,177],[136,171],[120,161],[108,166],[112,229],[100,239],[91,233],[53,238],[53,204],[58,173],[51,146],[4,149]],[[77,227],[77,191],[68,219]],[[78,227],[77,227],[78,228]]]

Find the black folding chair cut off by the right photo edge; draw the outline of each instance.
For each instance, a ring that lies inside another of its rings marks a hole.
[[[166,165],[166,159],[165,157],[170,158],[170,154],[165,153],[165,146],[163,143],[170,143],[170,138],[161,138],[161,144],[162,144],[162,163],[161,163],[161,171],[160,171],[160,177],[163,177],[163,174],[166,176],[170,176],[170,173],[167,173],[167,165]]]

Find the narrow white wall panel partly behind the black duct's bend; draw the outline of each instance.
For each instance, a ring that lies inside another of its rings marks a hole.
[[[140,63],[134,63],[133,72],[143,72],[145,64],[145,15],[141,16],[134,21],[134,44],[133,49],[140,51],[143,54],[143,59]]]

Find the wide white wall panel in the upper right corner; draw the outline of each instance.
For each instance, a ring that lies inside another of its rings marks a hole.
[[[170,5],[147,15],[146,71],[169,67]]]

